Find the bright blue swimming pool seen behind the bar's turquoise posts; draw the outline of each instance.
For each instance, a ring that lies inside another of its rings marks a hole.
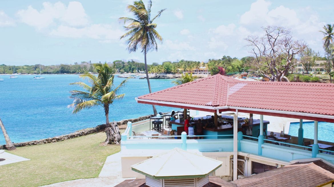
[[[299,122],[291,122],[289,134],[298,136]],[[314,121],[303,122],[304,138],[314,139]],[[318,122],[318,140],[334,142],[334,123]]]

